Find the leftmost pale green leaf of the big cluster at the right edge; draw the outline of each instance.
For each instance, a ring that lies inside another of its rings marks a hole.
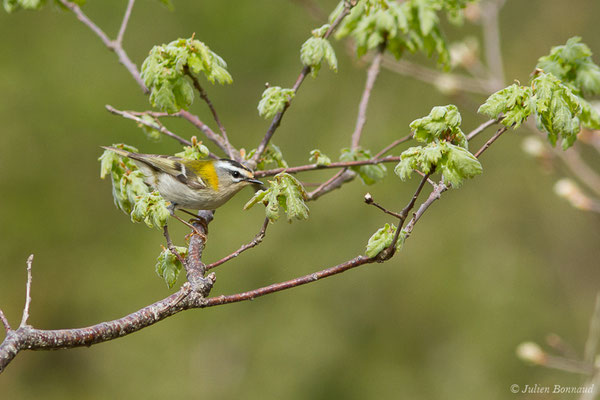
[[[512,84],[488,97],[477,112],[494,119],[502,114],[502,124],[516,129],[532,112],[531,97],[531,88]]]

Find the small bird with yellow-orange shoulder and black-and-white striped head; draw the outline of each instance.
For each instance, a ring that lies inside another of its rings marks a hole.
[[[171,203],[169,211],[173,216],[175,209],[214,210],[244,187],[263,185],[254,179],[251,169],[234,160],[186,160],[102,147],[133,160],[146,176],[145,183]]]

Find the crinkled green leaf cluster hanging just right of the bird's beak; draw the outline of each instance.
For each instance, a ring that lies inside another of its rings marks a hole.
[[[244,210],[262,202],[266,206],[266,215],[271,222],[279,218],[279,210],[282,209],[288,222],[293,219],[308,219],[308,207],[306,206],[307,193],[304,186],[292,175],[282,172],[275,175],[275,179],[269,181],[269,188],[259,190],[244,205]]]

